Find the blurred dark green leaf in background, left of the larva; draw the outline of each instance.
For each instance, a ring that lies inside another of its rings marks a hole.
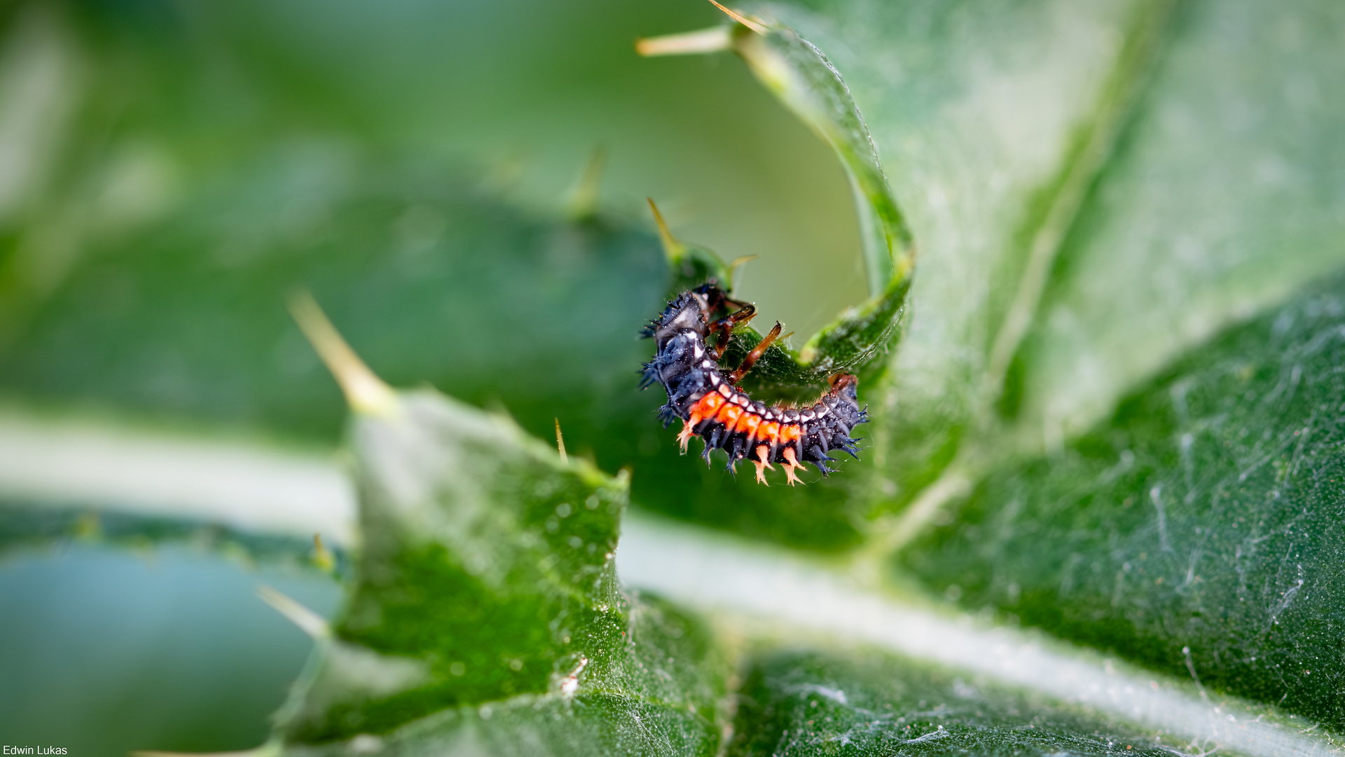
[[[282,201],[296,190],[301,209]],[[3,384],[331,442],[340,399],[284,310],[305,287],[391,380],[503,400],[539,434],[561,415],[576,439],[601,436],[643,407],[621,389],[660,287],[656,242],[483,194],[438,168],[278,148],[163,224],[89,242],[0,354]],[[246,234],[229,232],[238,218]],[[558,412],[577,399],[594,412]]]

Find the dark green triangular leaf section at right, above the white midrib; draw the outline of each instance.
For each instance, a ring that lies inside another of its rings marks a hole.
[[[986,478],[904,567],[1340,729],[1345,284],[1233,329],[1060,454]]]

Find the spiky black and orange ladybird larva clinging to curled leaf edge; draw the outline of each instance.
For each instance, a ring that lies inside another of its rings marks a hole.
[[[792,485],[799,481],[795,469],[810,462],[823,475],[834,469],[827,462],[830,450],[858,451],[850,431],[868,422],[868,414],[855,396],[858,378],[846,373],[831,377],[831,389],[810,407],[791,408],[753,401],[737,380],[752,366],[765,346],[779,334],[779,325],[744,361],[738,370],[725,376],[718,364],[726,337],[718,350],[707,343],[714,331],[728,334],[737,322],[755,314],[751,306],[737,314],[712,322],[712,303],[728,300],[713,283],[678,295],[667,310],[646,330],[654,337],[658,352],[644,365],[642,388],[658,381],[667,391],[668,401],[659,415],[664,426],[672,418],[686,424],[678,435],[682,451],[693,435],[705,439],[705,462],[710,453],[722,449],[729,455],[732,469],[740,459],[751,459],[757,469],[757,481],[765,484],[765,469],[783,463],[784,474]]]

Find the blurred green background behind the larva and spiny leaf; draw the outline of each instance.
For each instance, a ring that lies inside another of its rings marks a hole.
[[[721,20],[695,0],[5,5],[4,412],[328,450],[344,409],[284,311],[304,286],[390,381],[543,436],[560,416],[572,453],[608,470],[663,461],[636,466],[638,502],[788,529],[769,508],[798,497],[720,516],[689,498],[698,484],[668,488],[660,473],[693,461],[635,392],[635,334],[666,283],[646,197],[679,237],[760,256],[738,292],[796,345],[865,292],[830,150],[730,55],[633,53]],[[597,213],[576,220],[596,151]],[[769,535],[851,543],[839,494],[814,497],[830,521]],[[130,551],[4,533],[7,744],[254,746],[308,649],[256,585],[338,601],[311,567],[188,532]]]

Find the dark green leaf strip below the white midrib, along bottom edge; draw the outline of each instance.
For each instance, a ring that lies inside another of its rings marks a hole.
[[[1171,749],[1161,735],[1079,707],[874,651],[761,655],[741,698],[733,757],[1166,756]]]

